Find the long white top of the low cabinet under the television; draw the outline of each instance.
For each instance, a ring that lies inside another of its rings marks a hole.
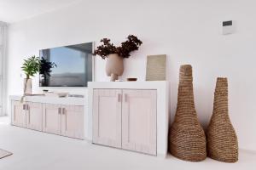
[[[20,100],[22,96],[20,95],[10,95],[11,100]],[[38,102],[38,103],[49,103],[49,104],[59,104],[59,105],[87,105],[87,97],[66,97],[60,98],[56,96],[26,96],[24,101],[28,102]]]

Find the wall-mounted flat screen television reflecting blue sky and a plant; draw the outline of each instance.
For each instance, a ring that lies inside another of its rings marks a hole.
[[[40,87],[87,87],[93,76],[92,51],[93,42],[40,50]]]

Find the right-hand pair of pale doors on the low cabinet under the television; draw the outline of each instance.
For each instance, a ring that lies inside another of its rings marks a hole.
[[[43,131],[84,138],[84,106],[44,104]]]

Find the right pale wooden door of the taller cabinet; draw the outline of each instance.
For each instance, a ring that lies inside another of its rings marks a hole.
[[[122,148],[156,155],[156,90],[123,90]]]

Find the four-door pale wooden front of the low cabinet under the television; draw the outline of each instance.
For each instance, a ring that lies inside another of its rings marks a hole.
[[[56,105],[31,101],[21,103],[20,100],[11,100],[11,124],[84,139],[84,105]]]

